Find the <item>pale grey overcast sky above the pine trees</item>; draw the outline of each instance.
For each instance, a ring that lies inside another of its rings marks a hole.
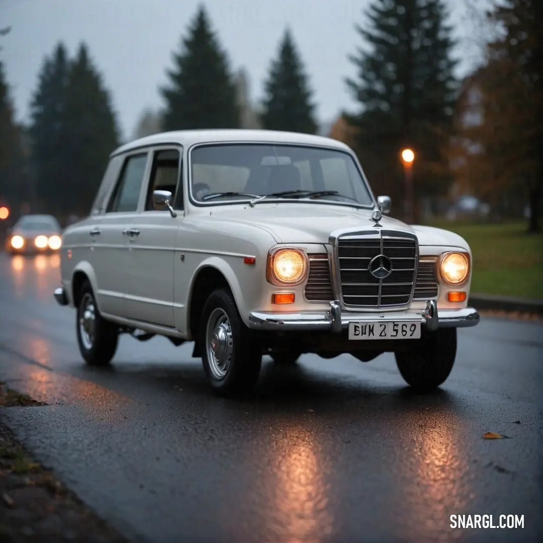
[[[478,61],[466,40],[464,0],[449,0],[451,21],[463,38],[456,55],[459,74]],[[0,59],[11,86],[17,119],[27,120],[43,56],[62,40],[70,50],[87,42],[111,91],[125,138],[144,108],[162,105],[158,87],[166,82],[172,51],[194,16],[198,0],[0,0]],[[347,55],[361,45],[354,27],[363,22],[369,0],[206,0],[213,28],[228,51],[231,68],[245,67],[251,97],[262,96],[262,81],[276,55],[283,30],[291,27],[314,89],[317,116],[330,122],[353,106],[344,77],[353,75]]]

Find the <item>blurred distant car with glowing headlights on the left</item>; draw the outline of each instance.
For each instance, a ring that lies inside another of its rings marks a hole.
[[[61,247],[62,229],[52,215],[21,216],[5,241],[5,250],[10,254],[58,252]]]

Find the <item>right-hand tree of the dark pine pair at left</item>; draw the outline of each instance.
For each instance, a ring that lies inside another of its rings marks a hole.
[[[69,138],[63,155],[71,171],[68,205],[70,211],[84,213],[102,181],[109,154],[119,143],[109,93],[84,43],[68,72],[63,119]]]

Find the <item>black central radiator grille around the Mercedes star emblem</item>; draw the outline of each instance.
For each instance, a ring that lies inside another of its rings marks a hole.
[[[411,302],[418,254],[415,238],[340,238],[337,251],[345,305],[380,308],[405,306]],[[392,271],[384,279],[377,279],[369,271],[370,262],[378,255],[392,262]]]

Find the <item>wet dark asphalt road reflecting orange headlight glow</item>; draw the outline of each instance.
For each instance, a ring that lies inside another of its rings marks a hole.
[[[234,401],[209,394],[191,344],[123,337],[112,370],[85,368],[58,284],[58,257],[0,253],[0,378],[50,404],[0,414],[131,540],[541,535],[541,325],[460,331],[456,366],[431,395],[412,394],[390,355],[306,355],[293,368],[267,359],[255,395]],[[524,515],[525,527],[452,529],[453,514]]]

